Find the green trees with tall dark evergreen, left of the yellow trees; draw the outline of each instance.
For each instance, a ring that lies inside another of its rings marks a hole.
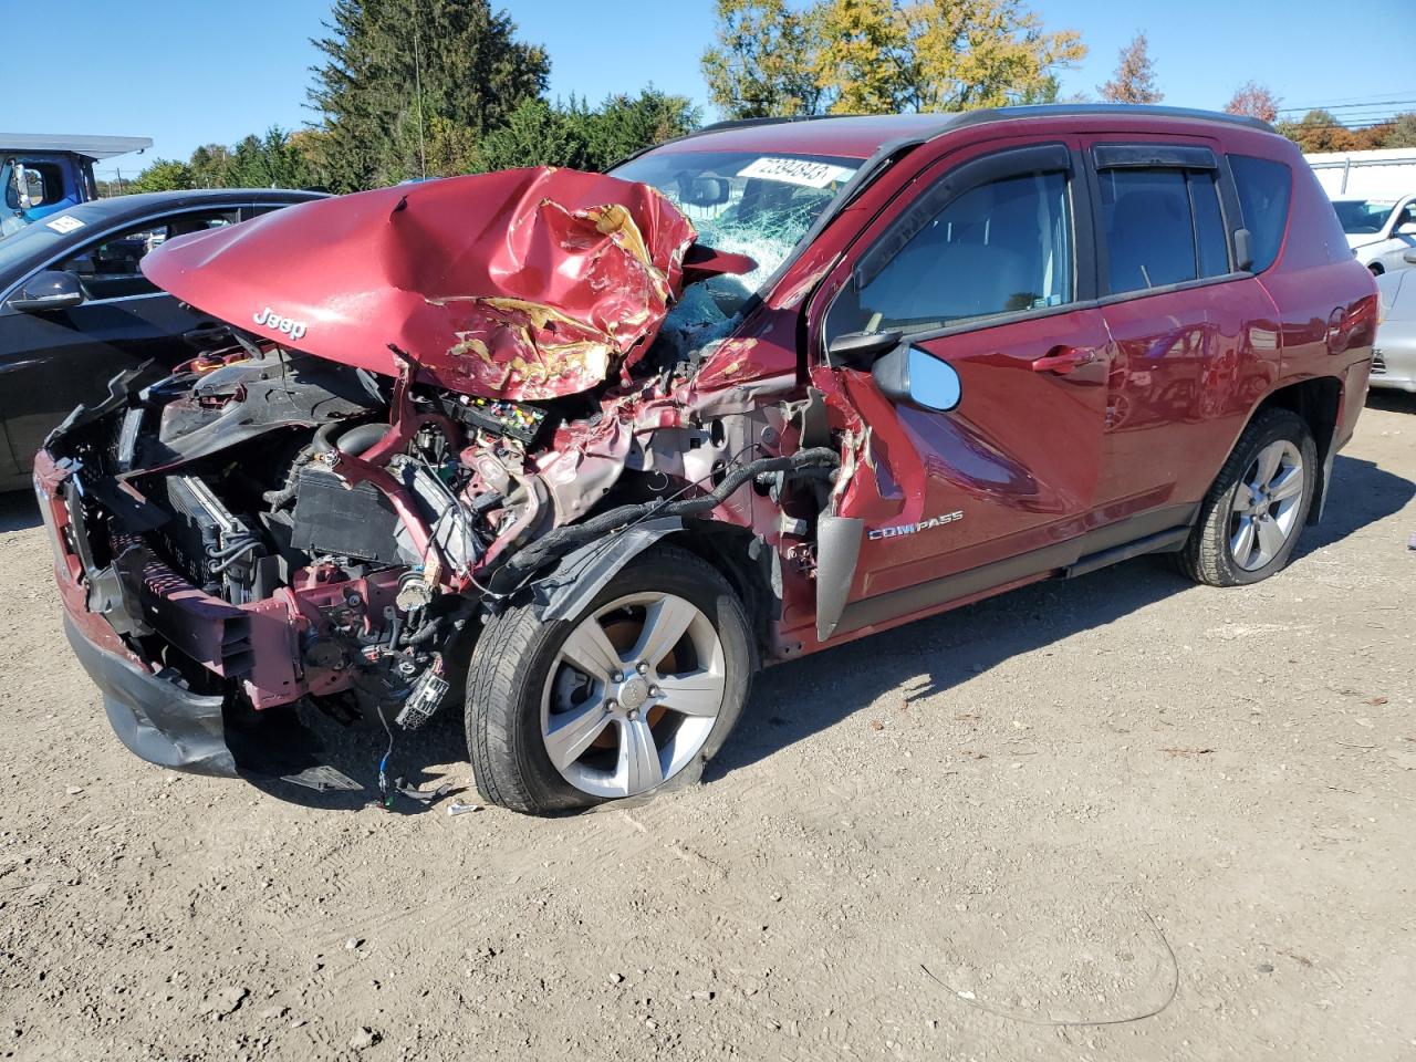
[[[314,45],[310,127],[157,159],[122,190],[346,193],[514,166],[603,170],[701,120],[691,101],[651,85],[598,106],[545,99],[549,57],[489,0],[336,0]]]

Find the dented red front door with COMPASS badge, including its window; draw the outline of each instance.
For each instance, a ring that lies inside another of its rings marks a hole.
[[[940,159],[813,302],[813,379],[865,433],[840,507],[865,524],[841,633],[1075,559],[1107,374],[1078,147],[1018,137]],[[895,404],[868,365],[831,364],[833,340],[858,331],[952,365],[959,405]]]

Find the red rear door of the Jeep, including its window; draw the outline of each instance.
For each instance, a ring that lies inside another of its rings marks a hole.
[[[1102,313],[1113,343],[1097,506],[1136,537],[1189,520],[1279,371],[1273,303],[1239,269],[1219,144],[1090,136]]]

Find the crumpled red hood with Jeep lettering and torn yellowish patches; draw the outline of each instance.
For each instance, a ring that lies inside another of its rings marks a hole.
[[[283,347],[487,398],[633,364],[683,287],[692,224],[657,190],[549,167],[317,200],[174,239],[142,269]]]

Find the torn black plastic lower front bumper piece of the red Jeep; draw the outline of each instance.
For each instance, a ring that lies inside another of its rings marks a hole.
[[[127,750],[163,767],[236,777],[222,722],[224,697],[184,690],[173,677],[152,673],[91,640],[71,615],[64,633],[89,678],[103,694],[103,709]]]

